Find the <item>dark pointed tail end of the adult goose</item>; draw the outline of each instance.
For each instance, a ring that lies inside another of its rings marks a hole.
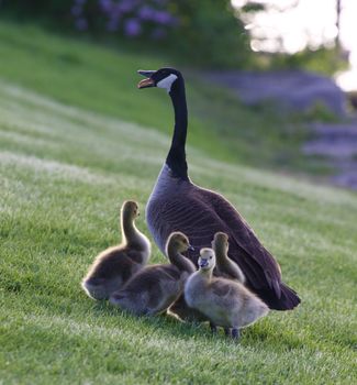
[[[278,298],[272,290],[255,292],[272,310],[292,310],[301,302],[297,292],[286,284],[281,283],[280,289],[280,298]]]

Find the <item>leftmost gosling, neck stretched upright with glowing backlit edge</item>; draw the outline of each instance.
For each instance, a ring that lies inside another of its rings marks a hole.
[[[101,252],[85,279],[82,288],[94,299],[108,299],[148,261],[150,243],[135,227],[140,215],[135,201],[127,200],[121,209],[122,243]]]

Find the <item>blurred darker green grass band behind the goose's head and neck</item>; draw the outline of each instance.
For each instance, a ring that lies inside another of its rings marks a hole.
[[[136,69],[175,63],[47,36],[32,25],[19,31],[4,23],[0,24],[0,74],[7,79],[64,103],[167,133],[170,101],[165,92],[143,98],[135,87],[140,80]],[[297,124],[283,124],[282,118],[268,112],[260,116],[241,106],[236,97],[202,84],[190,72],[185,74],[189,80],[190,140],[197,146],[225,161],[314,167],[299,155],[304,132]]]

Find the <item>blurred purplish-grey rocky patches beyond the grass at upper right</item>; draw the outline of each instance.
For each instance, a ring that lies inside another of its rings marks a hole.
[[[326,76],[286,70],[271,73],[210,72],[205,80],[231,90],[246,105],[274,100],[279,108],[305,111],[323,102],[337,117],[346,119],[346,95]],[[313,123],[314,140],[302,146],[309,156],[322,156],[336,170],[334,185],[357,190],[357,118],[349,123]]]

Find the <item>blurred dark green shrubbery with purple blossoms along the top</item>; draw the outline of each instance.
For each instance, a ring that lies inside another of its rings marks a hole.
[[[67,31],[149,42],[191,66],[249,62],[248,36],[228,0],[4,0],[2,8]]]

